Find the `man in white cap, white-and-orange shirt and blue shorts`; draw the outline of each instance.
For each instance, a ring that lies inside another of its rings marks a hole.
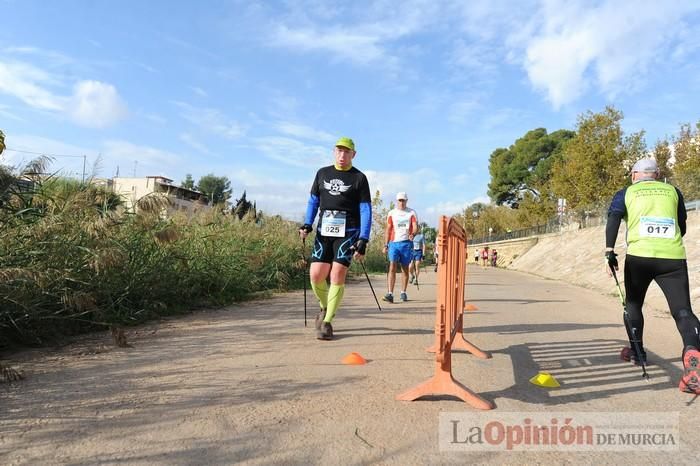
[[[387,216],[386,232],[384,234],[384,253],[389,258],[389,276],[387,277],[388,292],[382,298],[394,302],[394,284],[396,283],[396,264],[401,264],[403,282],[401,301],[408,301],[408,266],[413,260],[413,236],[418,231],[418,218],[413,209],[407,206],[408,196],[405,192],[396,194],[398,207],[391,209]]]

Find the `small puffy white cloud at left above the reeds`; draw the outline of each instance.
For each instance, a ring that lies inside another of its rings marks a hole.
[[[81,81],[75,85],[68,111],[82,126],[104,128],[126,115],[126,105],[111,84]]]

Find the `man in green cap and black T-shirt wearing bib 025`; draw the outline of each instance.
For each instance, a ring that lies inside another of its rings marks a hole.
[[[342,137],[335,143],[335,163],[316,173],[306,206],[301,238],[313,231],[309,278],[321,310],[316,316],[316,338],[333,339],[331,322],[345,293],[345,277],[352,258],[362,260],[372,225],[372,197],[367,177],[353,167],[355,143]],[[320,212],[319,212],[320,211]],[[326,279],[330,276],[330,286]]]

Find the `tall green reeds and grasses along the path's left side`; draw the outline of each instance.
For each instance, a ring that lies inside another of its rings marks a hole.
[[[94,183],[35,176],[46,164],[0,176],[0,348],[302,286],[292,222],[218,208],[166,217],[158,196],[129,213]]]

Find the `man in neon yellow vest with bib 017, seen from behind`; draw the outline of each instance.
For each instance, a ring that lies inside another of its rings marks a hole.
[[[605,228],[606,269],[608,275],[612,275],[612,269],[618,270],[614,248],[620,222],[624,219],[627,224],[624,274],[628,315],[625,327],[630,347],[623,350],[623,358],[646,364],[642,304],[654,280],[666,296],[683,340],[683,375],[679,389],[697,395],[700,394],[700,323],[690,306],[688,264],[682,239],[687,214],[680,190],[657,181],[658,176],[656,161],[641,159],[632,167],[632,185],[613,197]]]

